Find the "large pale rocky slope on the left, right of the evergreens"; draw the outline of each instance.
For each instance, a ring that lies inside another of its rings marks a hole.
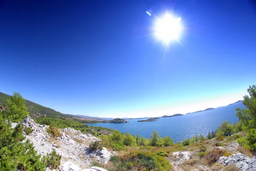
[[[29,116],[26,116],[21,124],[24,127],[32,128],[32,133],[26,135],[26,139],[33,143],[38,154],[44,156],[54,150],[62,156],[62,171],[66,171],[68,165],[72,165],[70,167],[73,170],[70,171],[81,171],[81,168],[89,168],[93,161],[107,163],[113,155],[106,148],[103,148],[102,151],[90,151],[88,146],[90,142],[100,141],[100,139],[90,134],[81,133],[79,130],[65,128],[63,131],[60,130],[61,137],[53,138],[47,133],[49,126],[36,124]]]

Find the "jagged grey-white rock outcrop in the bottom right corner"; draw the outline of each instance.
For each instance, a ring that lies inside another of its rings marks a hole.
[[[235,163],[240,171],[256,171],[256,157],[250,159],[244,154],[232,154],[229,157],[220,157],[218,160],[222,165],[230,165]]]

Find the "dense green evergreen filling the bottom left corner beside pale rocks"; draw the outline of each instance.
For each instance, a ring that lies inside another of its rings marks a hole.
[[[0,135],[0,171],[45,171],[46,163],[29,140],[22,143],[21,124],[12,129],[0,115]]]

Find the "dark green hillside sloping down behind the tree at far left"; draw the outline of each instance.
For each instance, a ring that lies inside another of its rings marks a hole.
[[[10,95],[7,95],[5,93],[0,92],[0,102],[2,104],[5,104],[7,100],[11,99]],[[25,100],[26,107],[28,107],[28,110],[30,113],[37,115],[37,116],[44,116],[45,114],[47,116],[63,116],[62,113],[57,112],[49,107],[41,106],[40,104],[36,104],[32,101]],[[67,117],[67,115],[65,115]]]

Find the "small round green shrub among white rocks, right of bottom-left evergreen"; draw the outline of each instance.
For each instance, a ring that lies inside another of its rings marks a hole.
[[[46,162],[47,167],[50,169],[58,168],[61,165],[61,155],[57,154],[54,150],[52,150],[51,154],[44,156],[42,160]]]

